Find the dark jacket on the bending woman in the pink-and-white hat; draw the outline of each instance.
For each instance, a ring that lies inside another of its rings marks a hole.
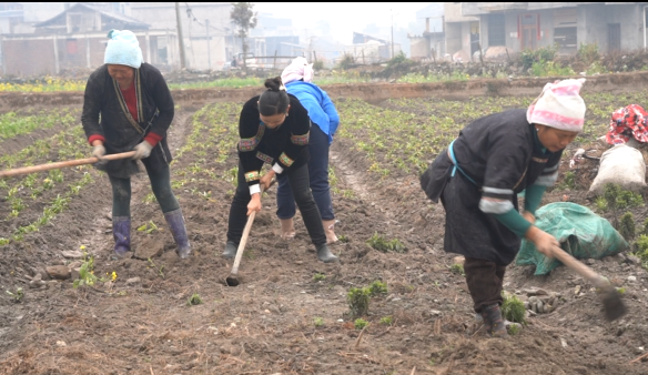
[[[531,184],[551,186],[563,151],[544,153],[526,110],[509,110],[473,121],[453,144],[458,166],[483,190],[484,196],[514,200]],[[453,170],[443,151],[422,176],[422,188],[437,202]],[[460,173],[456,171],[455,173]]]

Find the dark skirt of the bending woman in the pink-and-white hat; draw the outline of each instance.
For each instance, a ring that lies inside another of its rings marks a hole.
[[[508,265],[517,255],[520,239],[495,216],[479,210],[480,188],[459,171],[452,176],[453,164],[442,152],[422,175],[427,196],[441,201],[446,211],[444,250],[448,253]],[[517,196],[513,199],[517,210]]]

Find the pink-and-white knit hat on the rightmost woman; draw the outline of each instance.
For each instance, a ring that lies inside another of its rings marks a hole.
[[[585,102],[579,92],[583,83],[585,79],[581,78],[545,84],[543,93],[527,110],[527,121],[570,132],[581,132]]]

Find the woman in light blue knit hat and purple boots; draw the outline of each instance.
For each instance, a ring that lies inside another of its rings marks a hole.
[[[176,253],[191,253],[184,217],[171,190],[171,152],[166,130],[173,121],[173,99],[158,69],[143,62],[138,38],[129,30],[111,30],[104,64],[88,79],[81,122],[93,146],[92,155],[103,159],[134,150],[132,160],[104,161],[112,185],[112,232],[114,253],[122,257],[131,250],[131,175],[141,160],[151,180],[173,239]]]

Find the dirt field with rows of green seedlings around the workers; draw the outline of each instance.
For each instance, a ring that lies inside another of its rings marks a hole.
[[[575,148],[595,145],[612,110],[646,99],[646,92],[588,94],[587,130],[565,160]],[[134,257],[121,261],[111,254],[105,175],[79,168],[6,180],[0,237],[9,243],[0,246],[0,286],[13,294],[21,287],[23,296],[17,302],[2,292],[0,298],[0,373],[648,374],[648,362],[630,363],[648,349],[648,273],[622,256],[588,261],[626,288],[629,314],[622,320],[607,323],[591,285],[565,267],[539,277],[512,265],[505,290],[524,298],[533,287],[559,293],[556,310],[529,317],[507,339],[466,335],[475,321],[470,297],[453,272],[454,255],[443,252],[443,207],[426,200],[417,175],[472,119],[530,100],[337,100],[342,125],[331,181],[336,232],[344,239],[333,251],[342,262],[316,261],[301,219],[295,240],[280,239],[272,190],[237,287],[224,285],[232,263],[220,253],[235,189],[241,103],[181,105],[171,128],[172,183],[194,247],[186,261],[173,252],[145,173],[133,178]],[[67,110],[79,114],[78,107]],[[0,141],[0,169],[85,156],[89,149],[80,124],[61,120],[32,136]],[[570,172],[564,164],[561,176]],[[575,182],[561,179],[544,203],[567,196],[594,207],[585,191],[596,164],[579,168],[571,172]],[[23,207],[13,214],[19,200]],[[632,212],[639,224],[648,217],[645,206]],[[407,250],[378,252],[367,244],[373,235]],[[30,287],[45,266],[79,262],[68,252],[81,249],[94,255],[94,275],[109,280],[114,272],[114,282],[73,288],[72,280],[48,280]],[[364,317],[371,324],[361,334],[346,294],[374,281],[388,292],[372,298]],[[188,303],[194,294],[202,304]]]

